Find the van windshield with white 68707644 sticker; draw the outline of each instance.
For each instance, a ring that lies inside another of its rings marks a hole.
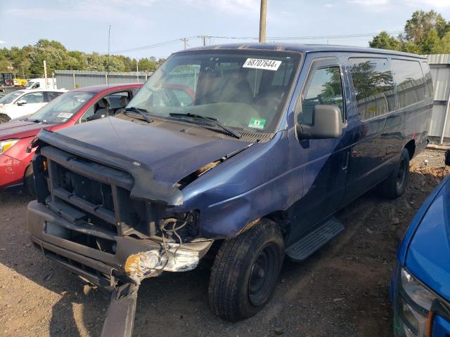
[[[202,115],[240,131],[273,132],[295,77],[299,53],[199,51],[172,55],[128,107],[155,117]]]

